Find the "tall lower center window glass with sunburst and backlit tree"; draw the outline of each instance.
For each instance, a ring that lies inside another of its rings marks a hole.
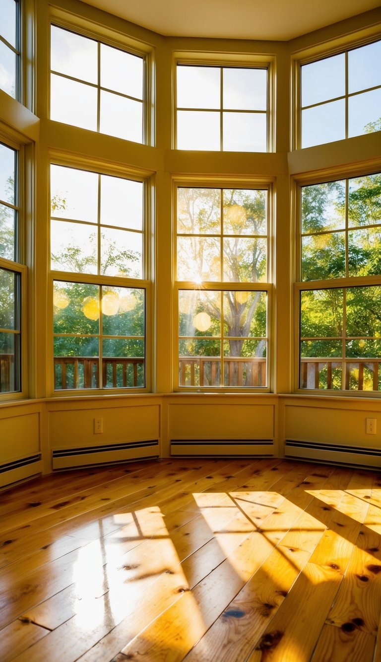
[[[267,387],[267,199],[177,189],[179,387]]]

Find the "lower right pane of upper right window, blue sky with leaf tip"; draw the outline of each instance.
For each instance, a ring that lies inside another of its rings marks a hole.
[[[348,137],[380,130],[381,89],[348,99]]]

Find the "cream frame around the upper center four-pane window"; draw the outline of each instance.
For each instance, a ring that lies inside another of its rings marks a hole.
[[[220,52],[183,52],[176,51],[173,53],[173,97],[172,97],[172,148],[177,150],[177,66],[203,66],[214,67],[223,70],[224,68],[235,69],[266,69],[267,70],[267,109],[261,111],[261,114],[266,115],[267,118],[267,149],[265,152],[238,152],[239,154],[269,154],[275,152],[276,135],[275,135],[275,66],[276,58],[269,54],[249,54],[245,53],[244,58],[241,54],[229,54]],[[222,75],[222,74],[221,74]],[[208,111],[208,109],[206,109]],[[222,115],[222,105],[216,112]],[[233,111],[234,112],[234,111]],[[237,112],[237,111],[235,111]],[[239,111],[238,111],[239,112]],[[251,111],[247,111],[251,112]],[[253,111],[255,112],[255,111]],[[220,122],[222,124],[222,122]],[[213,150],[212,153],[218,154],[234,154],[234,152],[225,152],[221,149],[222,145],[222,131],[220,130],[220,150]],[[189,151],[189,150],[181,150]],[[196,151],[196,150],[195,150]]]

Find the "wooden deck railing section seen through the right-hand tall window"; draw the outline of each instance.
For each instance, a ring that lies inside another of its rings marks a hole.
[[[378,391],[381,359],[302,358],[300,359],[300,388],[333,389],[334,380],[347,391]],[[335,371],[336,377],[335,377]],[[371,388],[370,388],[371,386]]]

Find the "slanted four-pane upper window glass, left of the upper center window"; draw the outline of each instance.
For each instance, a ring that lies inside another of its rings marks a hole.
[[[142,56],[52,25],[50,118],[145,142],[144,64]]]

